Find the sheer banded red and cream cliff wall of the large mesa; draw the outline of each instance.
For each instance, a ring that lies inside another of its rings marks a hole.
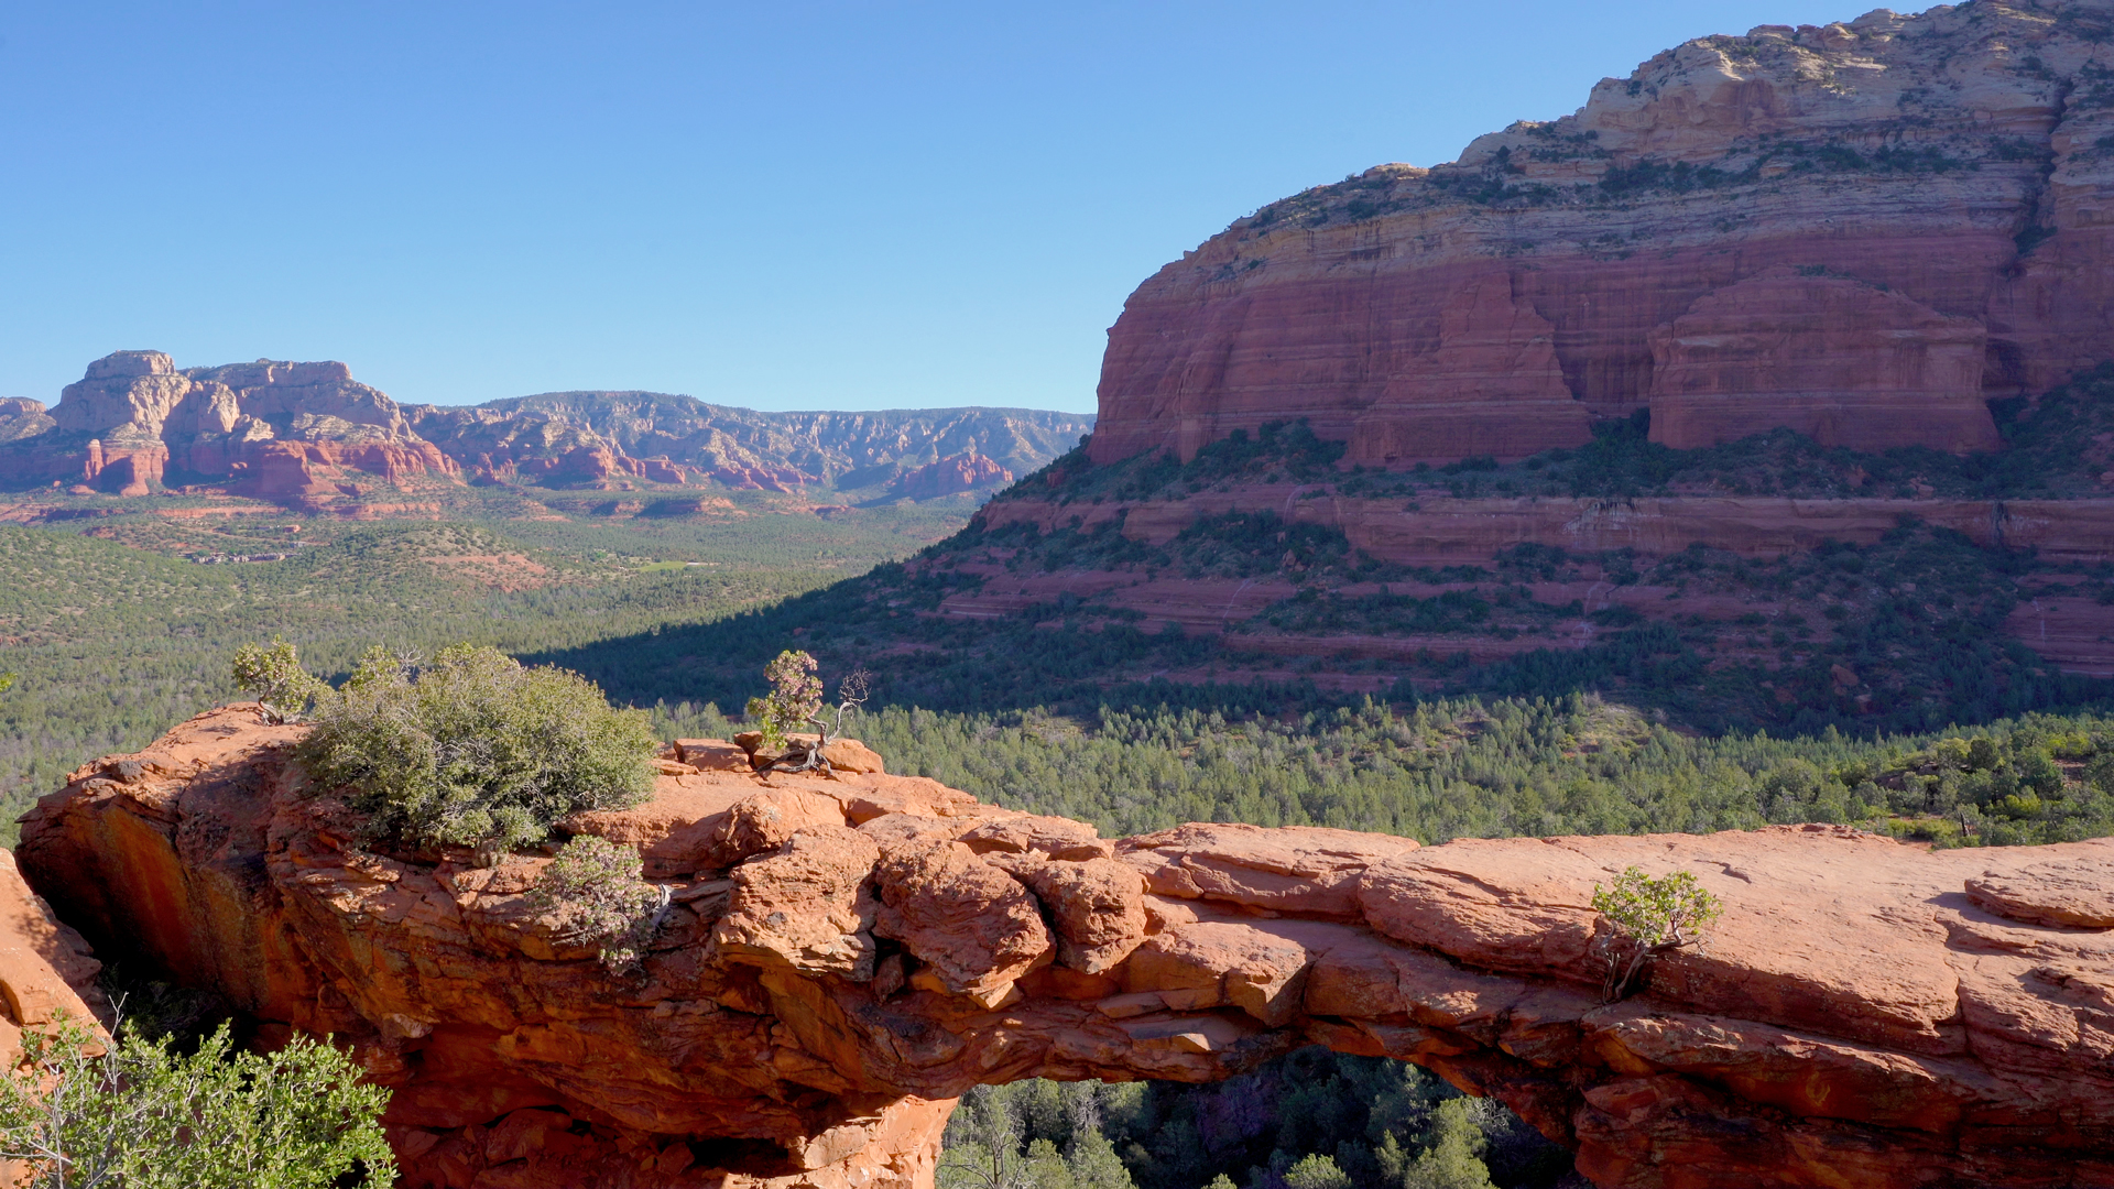
[[[1353,461],[1522,457],[1651,408],[1996,446],[1985,398],[2114,358],[2103,0],[1687,42],[1571,116],[1273,203],[1110,330],[1091,455],[1309,419]]]

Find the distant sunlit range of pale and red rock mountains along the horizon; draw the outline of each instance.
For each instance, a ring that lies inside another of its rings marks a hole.
[[[0,402],[0,487],[146,495],[165,482],[211,482],[304,506],[355,495],[361,480],[423,478],[882,491],[901,472],[956,459],[958,484],[939,472],[913,484],[930,497],[1010,482],[1091,427],[1091,417],[1025,408],[755,413],[651,391],[400,406],[345,364],[180,370],[161,351],[116,351],[49,410]]]

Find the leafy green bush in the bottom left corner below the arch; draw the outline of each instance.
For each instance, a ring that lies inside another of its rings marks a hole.
[[[123,1032],[23,1032],[0,1077],[0,1157],[23,1189],[332,1189],[395,1183],[389,1092],[323,1041],[235,1051],[228,1026],[184,1056]]]

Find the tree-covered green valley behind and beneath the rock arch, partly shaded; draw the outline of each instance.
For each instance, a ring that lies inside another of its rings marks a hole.
[[[662,738],[742,730],[727,711],[763,690],[763,664],[810,650],[831,685],[873,673],[875,696],[848,726],[892,772],[1106,836],[1182,821],[1427,844],[1805,821],[1932,846],[2114,834],[2106,683],[2057,673],[1991,630],[2023,590],[2114,592],[2110,573],[1913,523],[1877,546],[1778,563],[1520,548],[1473,573],[1397,573],[1340,533],[1256,516],[1199,523],[1154,552],[1112,533],[962,529],[964,514],[865,527],[793,516],[228,525],[209,550],[199,531],[148,518],[106,518],[93,535],[0,527],[0,671],[19,675],[0,692],[0,829],[11,838],[15,815],[76,764],[233,698],[228,654],[285,637],[334,681],[374,643],[419,654],[490,643],[581,671],[613,702],[651,711]],[[273,561],[220,561],[243,550]],[[960,565],[975,550],[1015,569],[1091,561],[1199,575],[1262,571],[1290,550],[1317,582],[1224,639],[1146,630],[1091,599],[996,620],[937,616],[979,582]],[[1611,616],[1583,650],[1355,662],[1376,677],[1359,694],[1298,669],[1243,677],[1243,633],[1490,630],[1495,614],[1533,618],[1518,603],[1526,582],[1581,565],[1668,586],[1854,592],[1877,611],[1729,626]],[[1480,586],[1450,601],[1351,599],[1319,580],[1332,571]],[[1852,702],[1831,666],[1886,673],[1884,698]],[[941,1185],[1480,1189],[1564,1176],[1566,1153],[1501,1106],[1412,1066],[1311,1049],[1205,1087],[979,1090],[947,1132]]]

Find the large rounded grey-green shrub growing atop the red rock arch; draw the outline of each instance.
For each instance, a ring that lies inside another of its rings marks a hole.
[[[571,812],[653,789],[643,711],[495,647],[455,645],[425,669],[372,650],[313,721],[298,751],[309,774],[351,789],[372,838],[412,846],[524,846]]]

